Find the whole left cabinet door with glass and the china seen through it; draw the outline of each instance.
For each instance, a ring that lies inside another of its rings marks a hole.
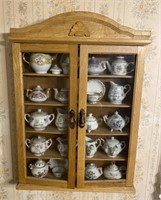
[[[78,48],[14,44],[13,49],[19,183],[74,188]]]

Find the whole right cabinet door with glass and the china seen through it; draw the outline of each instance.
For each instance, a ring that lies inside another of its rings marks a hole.
[[[141,96],[136,87],[142,74],[139,51],[135,46],[80,46],[79,188],[132,186]]]

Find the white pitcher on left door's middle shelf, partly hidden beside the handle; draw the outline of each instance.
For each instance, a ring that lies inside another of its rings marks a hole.
[[[59,131],[65,131],[68,127],[68,114],[62,108],[57,108],[57,115],[55,119],[55,125]]]

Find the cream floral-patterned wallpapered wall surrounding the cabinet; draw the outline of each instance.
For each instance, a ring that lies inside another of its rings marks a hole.
[[[58,13],[92,11],[140,30],[152,31],[143,83],[135,168],[135,195],[17,191],[10,27],[35,24]],[[160,0],[0,0],[0,200],[157,200],[161,149]]]

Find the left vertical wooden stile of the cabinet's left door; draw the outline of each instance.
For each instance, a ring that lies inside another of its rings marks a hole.
[[[18,173],[19,182],[25,183],[26,160],[25,160],[25,129],[24,129],[24,99],[23,99],[23,79],[22,79],[22,60],[20,44],[13,44],[13,72],[16,106],[16,131],[18,145]]]

